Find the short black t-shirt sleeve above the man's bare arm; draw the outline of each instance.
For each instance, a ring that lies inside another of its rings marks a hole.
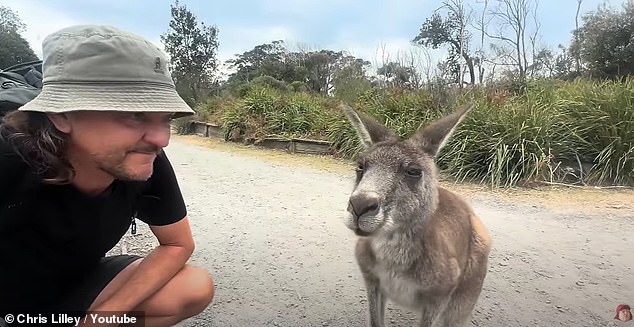
[[[148,225],[164,226],[183,219],[187,208],[165,152],[154,160],[154,172],[138,202],[137,218]]]

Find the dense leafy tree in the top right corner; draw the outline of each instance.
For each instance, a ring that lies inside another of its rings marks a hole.
[[[634,74],[634,2],[622,9],[604,6],[583,16],[571,52],[579,54],[585,74],[610,79]]]

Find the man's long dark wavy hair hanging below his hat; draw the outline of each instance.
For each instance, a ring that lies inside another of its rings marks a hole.
[[[0,139],[50,184],[68,184],[75,170],[66,157],[66,135],[42,112],[14,110],[2,118]]]

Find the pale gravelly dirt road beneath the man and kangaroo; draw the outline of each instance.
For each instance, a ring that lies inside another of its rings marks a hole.
[[[197,243],[191,263],[217,287],[213,305],[179,326],[365,326],[355,237],[342,222],[352,187],[345,163],[189,136],[166,151]],[[634,192],[563,200],[562,191],[454,188],[494,240],[473,326],[634,326],[612,319],[618,304],[634,305]],[[146,252],[154,243],[139,231],[113,252]],[[386,325],[416,326],[416,315],[388,304]]]

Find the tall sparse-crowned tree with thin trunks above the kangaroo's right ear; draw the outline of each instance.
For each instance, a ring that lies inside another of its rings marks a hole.
[[[431,46],[438,49],[443,44],[449,45],[448,63],[458,65],[450,71],[456,74],[456,79],[462,85],[462,69],[459,58],[463,58],[469,69],[470,84],[475,84],[475,68],[472,56],[469,54],[470,34],[467,31],[468,15],[464,10],[462,0],[444,2],[441,8],[449,10],[448,16],[443,18],[434,13],[420,28],[418,35],[412,40],[414,43]]]

